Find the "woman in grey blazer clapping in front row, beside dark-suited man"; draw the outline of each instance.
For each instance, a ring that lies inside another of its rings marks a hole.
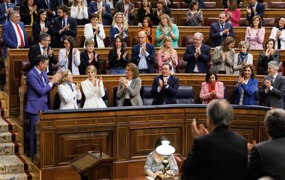
[[[120,77],[117,97],[120,98],[118,106],[142,106],[140,97],[140,88],[142,80],[140,79],[138,67],[134,63],[128,63],[126,66],[126,76]]]

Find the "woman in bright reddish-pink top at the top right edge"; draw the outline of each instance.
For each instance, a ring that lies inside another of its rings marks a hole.
[[[228,8],[224,12],[226,12],[228,23],[233,27],[240,26],[240,9],[236,0],[228,0]]]

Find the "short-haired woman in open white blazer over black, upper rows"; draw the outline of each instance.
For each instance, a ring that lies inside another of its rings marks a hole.
[[[105,31],[103,26],[98,23],[98,15],[92,14],[89,18],[90,23],[87,23],[84,26],[85,39],[95,41],[95,48],[105,48],[103,41],[105,39]]]

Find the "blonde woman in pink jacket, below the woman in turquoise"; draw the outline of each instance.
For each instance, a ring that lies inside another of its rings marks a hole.
[[[161,71],[160,69],[163,63],[169,63],[169,65],[172,66],[171,73],[176,72],[175,68],[178,65],[178,56],[176,50],[171,47],[171,37],[165,37],[165,39],[162,40],[162,45],[158,51],[157,60],[159,72]]]

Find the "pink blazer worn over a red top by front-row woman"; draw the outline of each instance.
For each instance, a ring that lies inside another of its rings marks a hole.
[[[223,99],[224,98],[224,83],[220,81],[215,81],[215,90],[217,91],[217,94],[215,95],[216,99]],[[210,99],[210,92],[209,92],[209,83],[203,82],[201,85],[200,90],[200,99],[202,100],[202,103],[209,103]]]

